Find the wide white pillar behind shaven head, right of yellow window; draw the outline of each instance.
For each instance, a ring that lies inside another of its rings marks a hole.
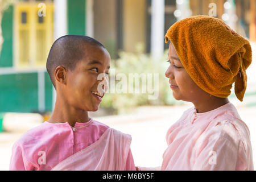
[[[67,0],[54,0],[54,40],[68,34]],[[52,86],[52,110],[56,101],[56,90]]]

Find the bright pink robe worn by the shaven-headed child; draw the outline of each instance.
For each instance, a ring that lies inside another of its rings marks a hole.
[[[97,168],[84,168],[88,170],[135,170],[133,155],[130,151],[131,137],[122,134],[119,131],[110,129],[108,126],[98,121],[92,121],[89,126],[87,123],[76,123],[75,127],[81,127],[73,131],[71,126],[65,123],[44,122],[42,125],[27,131],[22,137],[15,142],[10,161],[10,170],[51,170],[61,162],[81,154],[81,151],[89,152],[90,149],[104,146],[102,141],[106,139],[105,148],[120,152],[115,156],[112,162],[108,161],[105,156],[96,158],[86,158],[84,163],[98,163],[98,160],[104,160]],[[115,134],[115,135],[114,135]],[[113,136],[116,136],[117,142]],[[97,147],[96,147],[97,146]],[[80,152],[80,153],[79,153]],[[90,151],[92,153],[92,151]],[[105,154],[104,152],[102,154]],[[122,158],[122,160],[118,160]],[[108,163],[109,165],[106,165]],[[111,163],[111,165],[110,165]],[[84,165],[84,164],[83,164]],[[105,165],[105,166],[104,166]],[[59,165],[60,166],[60,165]],[[85,166],[85,165],[84,165]],[[106,167],[106,168],[105,168]],[[64,169],[64,168],[63,168]],[[80,170],[79,166],[72,170]]]

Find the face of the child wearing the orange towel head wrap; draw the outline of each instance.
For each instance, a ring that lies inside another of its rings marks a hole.
[[[202,98],[202,96],[209,96],[188,75],[172,43],[169,45],[168,58],[170,66],[166,71],[166,77],[169,78],[172,96],[176,100],[194,102]]]

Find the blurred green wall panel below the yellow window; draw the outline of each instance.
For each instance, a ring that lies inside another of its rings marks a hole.
[[[38,110],[37,73],[0,75],[0,112]]]

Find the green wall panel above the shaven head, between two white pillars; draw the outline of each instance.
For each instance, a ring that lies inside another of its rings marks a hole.
[[[68,0],[68,34],[85,35],[86,0]]]

